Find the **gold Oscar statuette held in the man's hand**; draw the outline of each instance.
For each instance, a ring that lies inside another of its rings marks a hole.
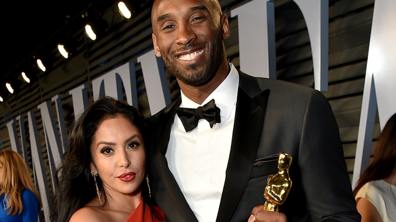
[[[271,174],[267,179],[267,187],[264,192],[264,198],[266,198],[264,209],[278,211],[278,207],[285,202],[291,188],[290,164],[291,156],[281,153],[278,160],[278,173]]]

